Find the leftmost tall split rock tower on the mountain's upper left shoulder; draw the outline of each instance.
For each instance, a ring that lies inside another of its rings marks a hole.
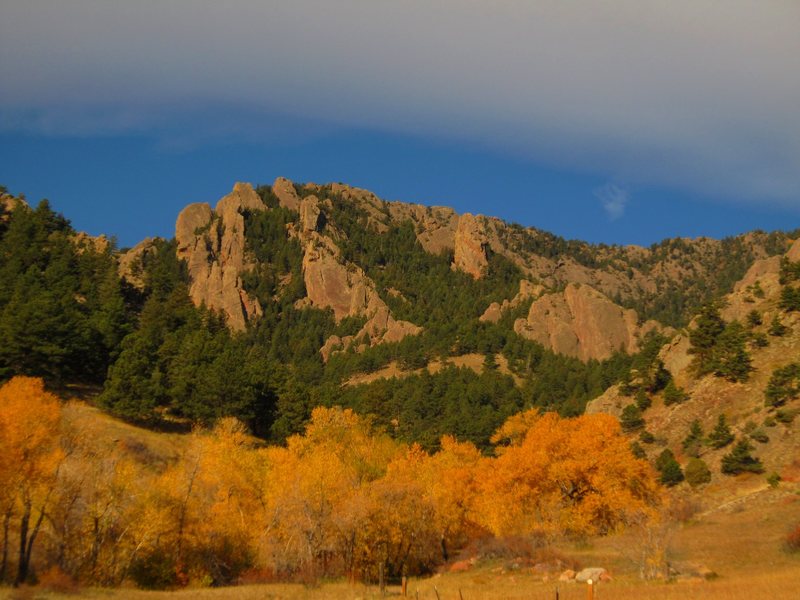
[[[242,287],[241,274],[249,268],[244,254],[245,210],[266,210],[266,206],[252,186],[237,183],[213,211],[206,203],[190,204],[175,225],[178,256],[186,260],[192,281],[192,300],[221,311],[237,331],[261,314],[258,300]]]

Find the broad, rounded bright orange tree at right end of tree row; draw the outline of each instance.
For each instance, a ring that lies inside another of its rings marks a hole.
[[[604,534],[661,501],[650,465],[636,459],[608,415],[512,417],[484,459],[475,519],[495,535]]]

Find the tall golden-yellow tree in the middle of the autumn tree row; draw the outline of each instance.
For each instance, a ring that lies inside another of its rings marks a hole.
[[[315,579],[355,567],[364,495],[381,478],[398,444],[349,409],[314,409],[303,435],[270,448],[271,564]]]

